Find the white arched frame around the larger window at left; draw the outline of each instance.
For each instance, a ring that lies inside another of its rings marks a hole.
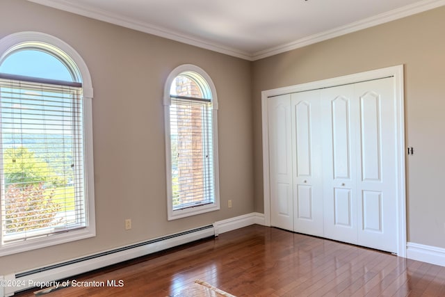
[[[95,190],[94,168],[92,159],[92,83],[90,72],[81,56],[66,42],[52,35],[40,32],[19,32],[0,39],[0,65],[13,51],[22,48],[40,48],[57,56],[67,69],[72,72],[73,79],[82,83],[83,91],[83,144],[84,144],[84,182],[86,195],[86,225],[79,230],[53,234],[26,241],[8,243],[0,246],[0,257],[27,250],[35,250],[60,243],[86,239],[96,235],[95,224]]]

